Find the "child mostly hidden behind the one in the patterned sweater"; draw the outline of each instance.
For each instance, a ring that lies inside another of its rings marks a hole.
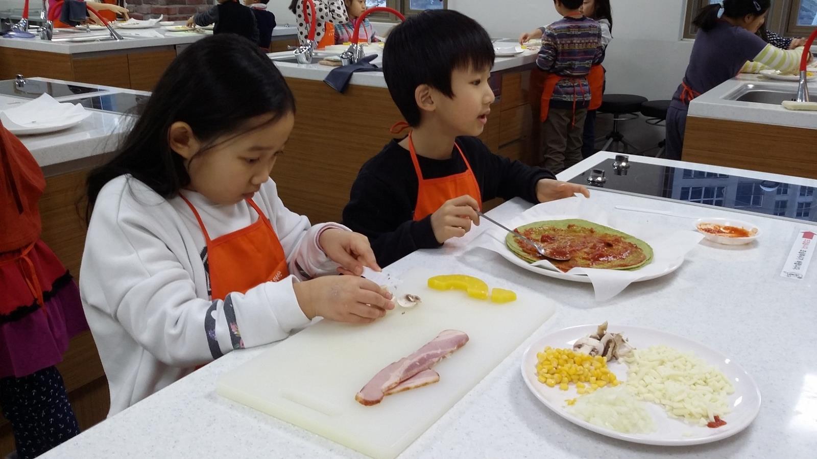
[[[582,13],[598,21],[601,26],[601,47],[607,51],[607,45],[613,41],[613,10],[610,0],[584,0]],[[582,157],[590,158],[596,153],[596,110],[601,106],[601,99],[605,92],[604,67],[593,65],[587,81],[590,83],[592,100],[587,107],[587,117],[584,118],[584,132],[582,138]]]

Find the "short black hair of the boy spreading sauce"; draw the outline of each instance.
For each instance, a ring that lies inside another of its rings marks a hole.
[[[493,59],[493,43],[479,23],[458,11],[428,10],[391,30],[383,50],[383,74],[406,123],[417,127],[418,86],[427,84],[453,98],[454,69],[490,69]]]

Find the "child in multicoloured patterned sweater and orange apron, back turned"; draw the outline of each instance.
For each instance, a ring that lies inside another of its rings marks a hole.
[[[587,75],[604,60],[601,28],[583,16],[583,0],[553,0],[565,16],[530,33],[541,33],[542,49],[536,65],[549,74],[542,92],[543,166],[562,172],[582,160],[582,134],[590,86]]]

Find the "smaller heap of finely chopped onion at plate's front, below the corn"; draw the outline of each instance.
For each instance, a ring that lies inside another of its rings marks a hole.
[[[579,397],[567,411],[596,426],[624,434],[646,434],[655,427],[645,405],[620,385]]]

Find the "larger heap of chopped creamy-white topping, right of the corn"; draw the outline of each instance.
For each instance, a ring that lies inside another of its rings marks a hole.
[[[660,345],[633,350],[627,363],[627,388],[636,398],[658,403],[671,417],[706,426],[730,412],[734,387],[717,368],[679,350]]]

